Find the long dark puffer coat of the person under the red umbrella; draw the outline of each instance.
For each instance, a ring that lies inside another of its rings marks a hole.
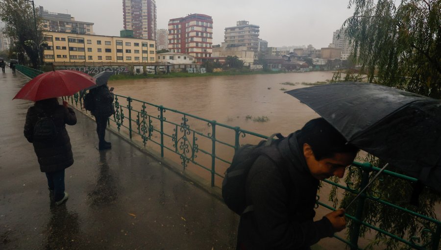
[[[39,116],[44,114],[51,115],[58,135],[49,142],[33,141],[34,126]],[[72,166],[72,146],[65,124],[76,124],[75,112],[72,108],[59,105],[57,101],[37,101],[27,110],[24,133],[26,139],[34,146],[41,172],[50,173]]]

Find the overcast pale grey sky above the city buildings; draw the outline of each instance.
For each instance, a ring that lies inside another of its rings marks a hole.
[[[34,0],[50,12],[68,13],[94,23],[97,35],[119,36],[123,0]],[[224,28],[247,20],[260,26],[270,47],[312,44],[328,47],[332,32],[352,15],[349,0],[156,0],[157,28],[172,18],[200,13],[213,18],[213,44],[221,44]]]

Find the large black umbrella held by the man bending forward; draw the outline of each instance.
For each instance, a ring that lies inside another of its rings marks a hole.
[[[441,101],[370,83],[331,83],[286,93],[346,140],[441,192]]]

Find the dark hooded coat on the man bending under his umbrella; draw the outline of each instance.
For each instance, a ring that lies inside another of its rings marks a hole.
[[[313,222],[319,180],[309,171],[297,133],[277,145],[289,159],[290,189],[268,156],[259,156],[248,173],[246,198],[253,210],[241,216],[237,242],[240,250],[309,250],[321,238],[334,234],[327,218]]]

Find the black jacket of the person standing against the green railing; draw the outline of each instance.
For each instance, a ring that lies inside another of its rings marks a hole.
[[[109,117],[115,113],[113,106],[113,93],[109,91],[107,85],[101,85],[95,89],[90,90],[94,95],[95,106],[91,111],[95,117]]]

